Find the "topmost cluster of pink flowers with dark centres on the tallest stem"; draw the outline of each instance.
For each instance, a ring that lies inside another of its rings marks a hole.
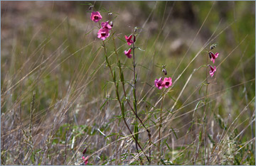
[[[100,15],[99,11],[92,11],[90,16],[92,21],[95,21],[95,23],[99,22],[102,19],[102,16]],[[110,29],[113,26],[113,23],[110,21],[102,22],[101,23],[102,28],[97,33],[97,38],[100,38],[101,40],[105,40],[110,36]]]

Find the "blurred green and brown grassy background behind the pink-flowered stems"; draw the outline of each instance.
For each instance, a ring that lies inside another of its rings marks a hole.
[[[209,143],[220,138],[225,143],[221,133],[226,133],[227,141],[235,138],[235,150],[246,146],[239,155],[218,153],[222,158],[208,164],[255,164],[255,1],[1,1],[1,164],[74,165],[86,146],[87,155],[93,154],[89,164],[129,164],[132,157],[123,159],[122,154],[134,152],[131,140],[114,142],[129,132],[119,118],[97,38],[98,24],[90,20],[90,4],[100,11],[102,21],[114,23],[127,82],[133,75],[132,60],[123,54],[129,48],[124,35],[139,28],[139,114],[153,133],[161,96],[154,79],[163,76],[162,65],[175,82],[163,104],[165,117],[169,111],[176,113],[165,119],[171,125],[164,127],[163,135],[170,128],[177,131],[162,141],[172,145],[169,152],[163,143],[165,164],[201,164],[203,155],[192,162],[194,157],[182,150],[193,144],[191,154],[196,156],[193,148],[199,142],[204,109],[199,101],[205,96],[203,82],[209,71],[201,66],[213,65],[210,60],[206,64],[213,44],[217,47],[212,51],[220,55],[214,63],[217,72],[208,77]],[[113,43],[106,43],[112,55]],[[116,67],[114,56],[110,62]],[[132,97],[129,84],[127,94]],[[146,118],[146,111],[151,118]],[[129,113],[127,121],[132,119]],[[192,122],[198,124],[191,131]],[[146,132],[141,130],[141,141],[146,143]],[[127,147],[119,150],[123,144]],[[110,146],[100,150],[106,145]]]

